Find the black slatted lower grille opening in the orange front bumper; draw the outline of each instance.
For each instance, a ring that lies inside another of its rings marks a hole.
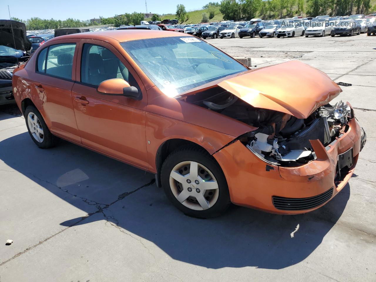
[[[286,198],[273,196],[273,205],[276,209],[285,211],[304,211],[322,205],[331,199],[334,187],[319,195],[308,198]]]

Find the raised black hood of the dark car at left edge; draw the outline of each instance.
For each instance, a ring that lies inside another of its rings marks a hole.
[[[25,24],[13,20],[0,20],[0,45],[21,51],[29,51],[31,42],[26,38]]]

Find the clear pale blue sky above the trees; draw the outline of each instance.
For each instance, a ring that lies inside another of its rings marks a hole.
[[[147,0],[148,12],[158,14],[175,13],[176,5],[183,4],[185,9],[201,9],[203,5],[210,2],[200,0],[174,1],[156,1]],[[112,17],[115,14],[124,14],[145,11],[145,0],[126,0],[126,1],[104,1],[104,0],[1,0],[0,1],[0,19],[8,19],[8,5],[11,10],[11,16],[26,20],[32,17],[54,18],[56,20],[65,20],[66,18],[78,18],[87,20],[90,18]]]

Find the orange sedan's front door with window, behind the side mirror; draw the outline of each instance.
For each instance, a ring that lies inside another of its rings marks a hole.
[[[128,62],[110,44],[81,39],[77,57],[73,108],[82,144],[113,158],[148,168],[146,158],[146,91]],[[97,86],[122,78],[143,94],[142,100],[105,95]]]

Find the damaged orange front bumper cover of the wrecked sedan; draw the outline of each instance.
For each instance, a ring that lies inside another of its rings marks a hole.
[[[352,176],[365,138],[356,119],[352,118],[347,132],[328,146],[324,147],[318,140],[312,140],[317,159],[300,167],[267,164],[240,141],[224,147],[213,156],[226,176],[234,204],[276,214],[301,214],[320,208],[342,190]],[[336,179],[338,155],[351,148],[352,165],[347,173],[341,172],[341,177]],[[275,205],[275,199],[277,202],[281,199],[282,202],[284,199],[303,202],[309,199],[317,203],[317,197],[325,201],[308,209],[284,210]]]

